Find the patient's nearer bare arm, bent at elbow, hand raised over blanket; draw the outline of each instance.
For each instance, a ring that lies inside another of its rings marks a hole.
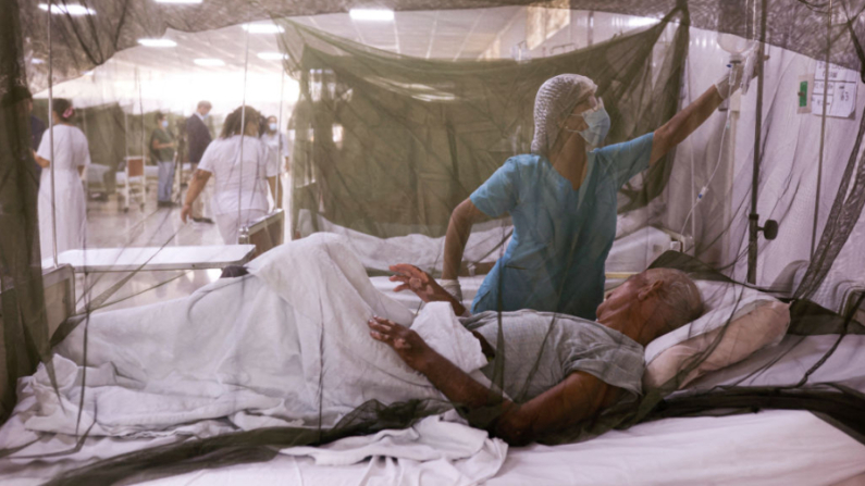
[[[394,348],[406,364],[427,376],[454,404],[469,410],[499,408],[487,429],[512,446],[586,420],[618,396],[618,388],[574,372],[532,400],[514,403],[472,379],[408,327],[382,317],[373,317],[368,324],[373,339]]]

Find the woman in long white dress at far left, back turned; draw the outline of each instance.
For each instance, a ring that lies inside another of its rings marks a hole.
[[[42,167],[39,180],[39,247],[42,258],[53,252],[52,207],[57,214],[57,252],[84,248],[87,205],[82,174],[84,166],[90,163],[90,148],[84,132],[72,125],[74,115],[72,102],[55,99],[51,113],[54,121],[54,157],[51,158],[49,132],[42,136],[35,154],[36,163]],[[54,166],[53,171],[51,165]],[[54,174],[57,204],[52,204],[51,200],[51,172]]]

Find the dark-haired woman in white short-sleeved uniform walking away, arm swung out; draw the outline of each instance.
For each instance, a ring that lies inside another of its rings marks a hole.
[[[250,107],[246,107],[245,115],[243,111],[244,107],[234,110],[225,119],[220,137],[208,146],[181,211],[186,223],[193,203],[213,175],[211,208],[226,245],[237,242],[242,226],[268,213],[268,186],[275,194],[280,173],[275,158],[258,138],[261,115]]]

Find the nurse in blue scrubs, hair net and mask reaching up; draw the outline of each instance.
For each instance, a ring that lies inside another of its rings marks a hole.
[[[740,84],[741,71],[733,71],[654,133],[597,148],[610,127],[597,86],[577,74],[547,79],[534,101],[532,153],[508,159],[450,215],[442,286],[461,300],[457,274],[472,224],[510,214],[510,244],[471,312],[533,309],[594,320],[619,188],[684,140]]]

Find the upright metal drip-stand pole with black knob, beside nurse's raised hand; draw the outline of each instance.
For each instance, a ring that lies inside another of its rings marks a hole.
[[[754,166],[751,173],[751,214],[747,215],[747,277],[749,284],[757,283],[757,239],[759,237],[759,214],[757,214],[757,191],[759,188],[759,145],[763,139],[763,59],[766,52],[766,5],[761,3],[759,45],[757,46],[757,110],[754,123]]]

